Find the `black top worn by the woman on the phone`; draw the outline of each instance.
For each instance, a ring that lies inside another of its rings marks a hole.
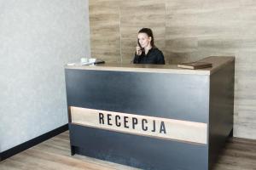
[[[141,55],[135,53],[133,63],[165,65],[165,57],[158,48],[151,48],[148,50],[148,54],[145,54],[144,51]]]

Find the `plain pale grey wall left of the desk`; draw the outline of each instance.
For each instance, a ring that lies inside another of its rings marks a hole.
[[[87,0],[0,1],[0,151],[67,123],[63,65],[89,30]]]

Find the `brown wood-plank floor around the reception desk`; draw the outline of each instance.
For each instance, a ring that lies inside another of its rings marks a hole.
[[[68,131],[0,161],[1,170],[130,170],[137,169],[86,156],[70,156]],[[256,140],[232,138],[214,170],[256,170]]]

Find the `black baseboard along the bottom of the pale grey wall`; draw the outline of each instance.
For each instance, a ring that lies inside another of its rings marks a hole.
[[[0,153],[0,161],[3,161],[5,159],[9,158],[10,156],[14,156],[15,154],[18,154],[23,150],[27,150],[34,145],[40,144],[41,142],[44,142],[47,139],[55,137],[56,135],[63,133],[67,130],[68,130],[68,124],[65,124],[61,127],[55,128],[52,131],[49,131],[48,133],[44,133],[44,134],[38,136],[37,138],[26,141],[23,144],[19,144],[13,148],[10,148],[9,150],[5,150]]]

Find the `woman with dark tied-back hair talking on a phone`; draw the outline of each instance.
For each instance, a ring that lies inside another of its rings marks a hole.
[[[165,65],[165,57],[154,46],[153,32],[149,28],[143,28],[137,34],[137,48],[133,63]]]

